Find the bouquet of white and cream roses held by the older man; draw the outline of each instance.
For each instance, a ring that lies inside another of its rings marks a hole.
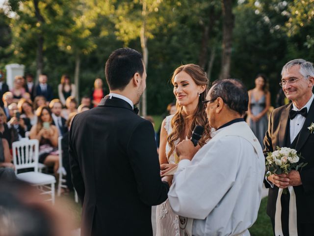
[[[299,163],[300,156],[296,154],[296,150],[292,148],[279,148],[273,152],[268,152],[266,157],[266,176],[273,174],[289,174],[291,170],[298,170],[305,167],[308,163]],[[287,189],[283,190],[287,193]]]

